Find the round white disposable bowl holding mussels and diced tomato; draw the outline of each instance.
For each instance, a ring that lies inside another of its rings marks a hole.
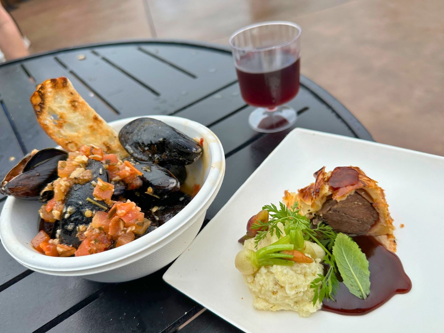
[[[163,226],[135,241],[98,254],[83,257],[48,257],[37,252],[31,240],[38,232],[40,202],[9,197],[0,215],[0,239],[4,248],[22,265],[37,272],[80,276],[93,281],[121,282],[151,274],[177,258],[196,237],[206,210],[213,202],[225,173],[222,144],[202,124],[174,116],[147,116],[159,119],[191,138],[203,138],[203,154],[186,166],[186,185],[201,186],[198,194]],[[116,131],[133,119],[110,123]]]

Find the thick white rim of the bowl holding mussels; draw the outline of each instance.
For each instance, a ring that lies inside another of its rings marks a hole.
[[[102,272],[111,270],[113,268],[117,268],[117,266],[123,266],[127,263],[127,261],[133,262],[137,260],[131,259],[133,257],[140,257],[142,252],[148,252],[147,250],[153,247],[162,247],[162,243],[166,241],[169,236],[176,234],[183,226],[186,226],[188,222],[193,220],[196,215],[202,214],[203,210],[208,208],[206,207],[209,206],[209,204],[207,205],[207,202],[213,197],[214,192],[216,192],[220,187],[220,183],[222,182],[223,175],[225,173],[225,155],[222,143],[218,137],[206,126],[193,120],[176,116],[145,115],[119,119],[110,122],[109,124],[112,127],[118,127],[121,125],[123,126],[134,119],[144,117],[159,119],[173,127],[174,123],[191,127],[197,131],[199,135],[202,135],[202,137],[206,139],[208,144],[207,149],[211,151],[211,164],[208,166],[209,172],[205,182],[203,182],[198,194],[196,194],[190,203],[173,218],[171,218],[168,223],[160,226],[154,232],[146,234],[131,243],[125,244],[125,246],[115,248],[112,251],[104,251],[91,256],[82,257],[48,257],[37,253],[31,247],[28,248],[21,243],[19,243],[19,246],[17,246],[17,244],[14,244],[14,242],[16,242],[15,237],[12,237],[13,231],[11,223],[9,223],[9,225],[6,223],[0,223],[1,242],[3,243],[7,252],[11,254],[14,259],[23,265],[30,267],[31,269],[36,268],[37,270],[44,270],[48,273],[54,272],[55,274],[57,274],[57,272],[72,272],[75,274],[75,272],[80,273],[79,271],[94,270],[95,268]],[[12,206],[15,200],[20,199],[8,197],[4,205],[4,210],[7,207],[9,208]],[[0,221],[4,219],[6,219],[5,215],[1,214]],[[31,242],[31,240],[29,240],[29,242]],[[105,268],[104,266],[109,267]],[[89,272],[89,274],[94,273],[95,272]]]

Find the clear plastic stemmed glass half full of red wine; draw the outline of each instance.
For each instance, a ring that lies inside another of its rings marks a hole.
[[[289,128],[297,113],[283,104],[299,91],[301,27],[292,22],[252,24],[230,37],[242,98],[258,107],[250,127],[259,132]]]

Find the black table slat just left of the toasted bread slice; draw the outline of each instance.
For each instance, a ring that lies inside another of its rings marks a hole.
[[[28,75],[18,64],[0,67],[0,94],[11,115],[13,126],[20,135],[25,152],[56,145],[37,123],[32,110],[29,98],[35,90],[35,84],[29,80]]]

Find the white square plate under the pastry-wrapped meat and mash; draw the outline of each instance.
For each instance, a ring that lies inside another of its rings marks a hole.
[[[364,316],[317,311],[260,311],[234,257],[246,222],[284,190],[314,181],[326,166],[359,166],[385,189],[396,226],[397,255],[412,290]],[[277,146],[163,275],[174,288],[246,332],[437,332],[444,327],[441,263],[444,157],[297,128]],[[400,228],[400,224],[404,228]]]

